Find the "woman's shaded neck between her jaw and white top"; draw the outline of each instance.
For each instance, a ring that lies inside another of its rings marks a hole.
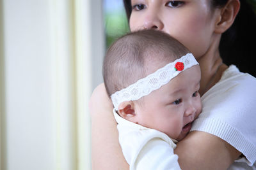
[[[220,38],[212,43],[207,52],[198,59],[201,69],[201,81],[199,93],[202,96],[211,89],[218,81],[220,81],[223,72],[228,68],[223,64],[220,57],[218,46]]]

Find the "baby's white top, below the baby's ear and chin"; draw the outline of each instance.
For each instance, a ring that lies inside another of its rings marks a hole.
[[[115,109],[113,113],[118,123],[119,143],[130,169],[180,169],[178,156],[173,153],[176,145],[172,139],[163,132],[125,120]]]

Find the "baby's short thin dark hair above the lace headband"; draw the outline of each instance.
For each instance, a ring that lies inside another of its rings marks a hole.
[[[163,67],[186,53],[184,45],[162,31],[136,31],[118,38],[106,52],[102,68],[108,95],[152,73],[152,64]]]

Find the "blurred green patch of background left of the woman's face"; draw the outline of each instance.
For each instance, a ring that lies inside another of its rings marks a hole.
[[[106,47],[108,48],[116,38],[129,32],[129,25],[125,11],[113,11],[105,15]]]

